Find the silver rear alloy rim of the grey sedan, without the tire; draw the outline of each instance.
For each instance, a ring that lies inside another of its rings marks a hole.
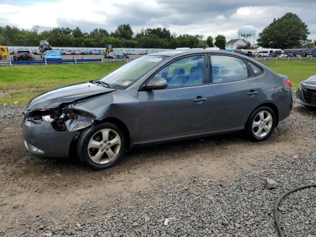
[[[269,111],[260,111],[252,121],[252,130],[257,137],[266,136],[273,125],[273,118]]]

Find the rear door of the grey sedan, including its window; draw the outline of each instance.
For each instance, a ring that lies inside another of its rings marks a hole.
[[[260,97],[259,82],[244,59],[223,54],[209,57],[211,83],[207,131],[242,126]]]

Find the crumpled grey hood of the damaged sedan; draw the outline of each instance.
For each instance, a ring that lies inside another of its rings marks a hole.
[[[56,108],[62,103],[71,103],[93,96],[106,94],[116,89],[106,88],[90,82],[68,85],[43,93],[33,98],[27,110]]]

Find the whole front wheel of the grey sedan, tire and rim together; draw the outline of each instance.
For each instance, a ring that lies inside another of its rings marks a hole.
[[[77,150],[79,159],[90,168],[109,168],[123,157],[124,136],[117,125],[102,123],[82,132]]]

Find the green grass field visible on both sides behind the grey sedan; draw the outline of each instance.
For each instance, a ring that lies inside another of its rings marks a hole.
[[[316,74],[316,60],[261,60],[273,71],[289,77],[296,90],[300,81]],[[122,63],[30,65],[0,68],[0,105],[27,104],[39,93],[80,81],[100,78]]]

